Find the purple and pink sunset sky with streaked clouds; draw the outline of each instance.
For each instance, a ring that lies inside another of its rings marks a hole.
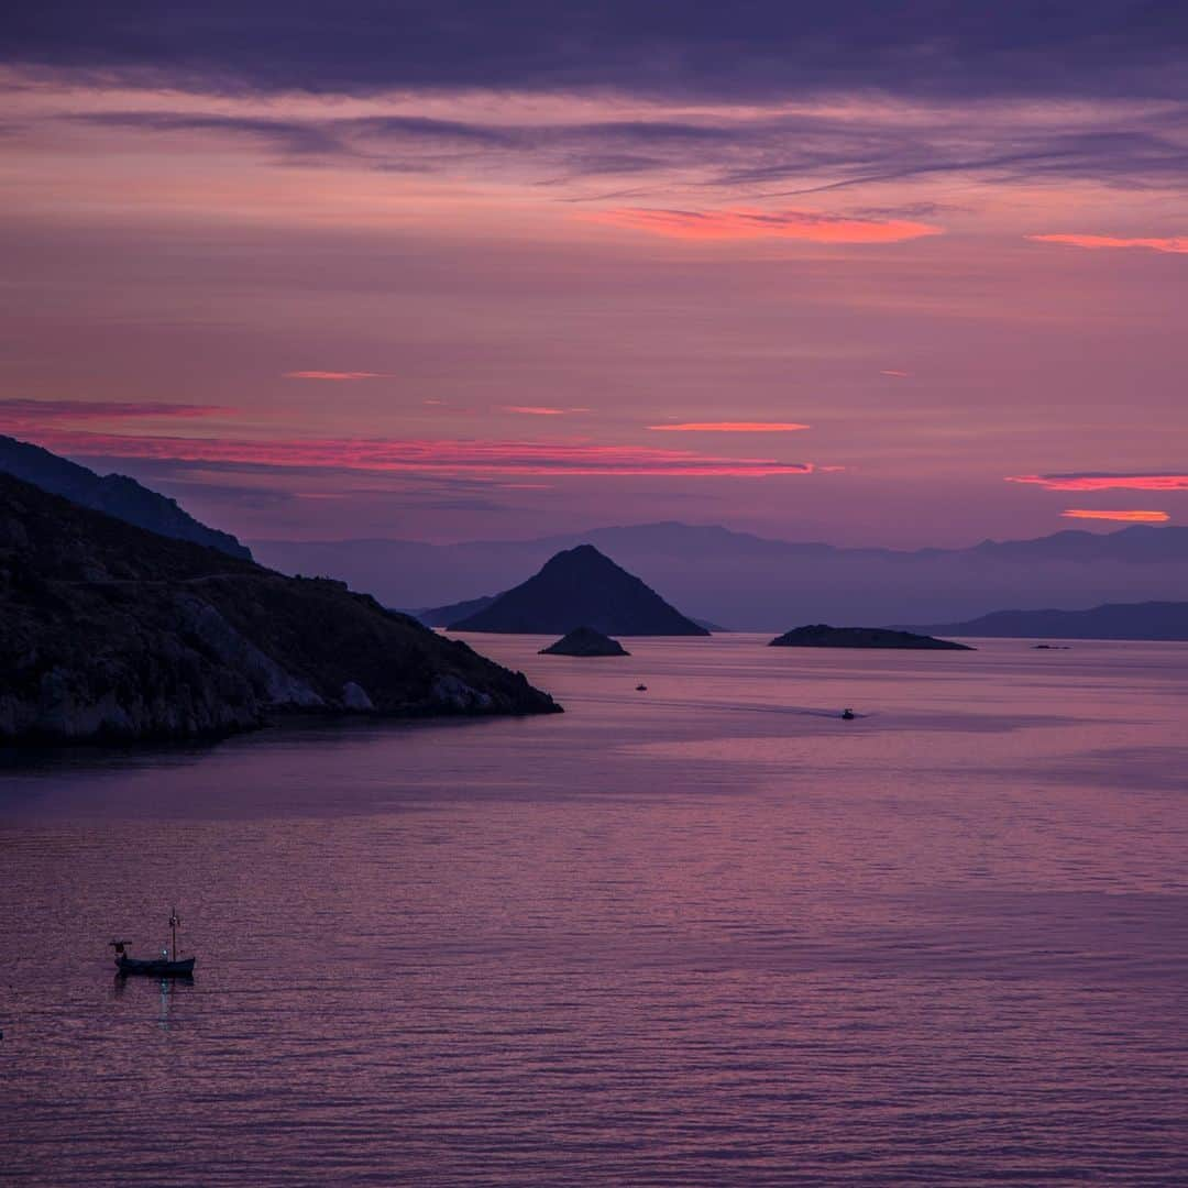
[[[246,539],[1188,523],[1180,4],[0,31],[0,432]]]

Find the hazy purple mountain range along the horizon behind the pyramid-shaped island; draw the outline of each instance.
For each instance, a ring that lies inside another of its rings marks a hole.
[[[582,543],[638,574],[685,614],[739,630],[952,623],[1004,606],[1082,609],[1188,598],[1188,529],[1173,526],[1069,530],[915,551],[794,543],[681,523],[533,541],[258,541],[252,548],[285,573],[326,574],[387,606],[425,607],[489,598]]]

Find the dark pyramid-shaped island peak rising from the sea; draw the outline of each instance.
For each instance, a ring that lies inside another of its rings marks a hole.
[[[633,574],[592,544],[567,549],[450,631],[560,636],[575,627],[605,636],[708,636]]]

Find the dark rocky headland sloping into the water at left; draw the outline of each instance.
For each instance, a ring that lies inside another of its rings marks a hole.
[[[285,709],[558,708],[340,582],[283,577],[0,475],[0,739],[185,738]]]

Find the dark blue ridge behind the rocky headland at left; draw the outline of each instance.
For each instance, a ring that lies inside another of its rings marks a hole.
[[[127,475],[99,475],[40,446],[4,436],[0,436],[0,472],[150,532],[204,544],[232,557],[252,558],[251,550],[229,532],[207,527],[175,500],[143,487]]]

